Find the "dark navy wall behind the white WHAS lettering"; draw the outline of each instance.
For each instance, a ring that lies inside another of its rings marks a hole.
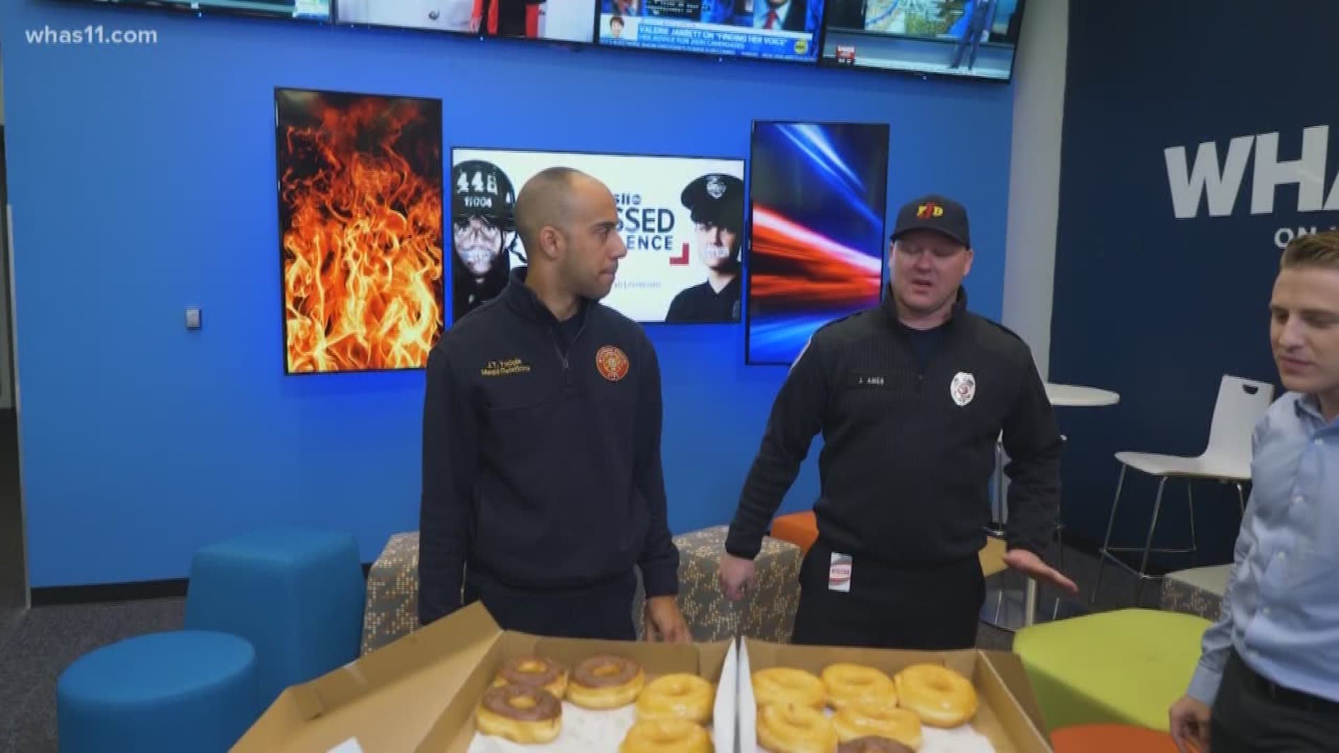
[[[1129,0],[1070,11],[1051,378],[1121,393],[1115,407],[1062,411],[1071,439],[1065,519],[1089,540],[1101,541],[1110,520],[1114,453],[1197,456],[1224,374],[1277,385],[1268,311],[1276,236],[1339,225],[1339,212],[1300,210],[1296,185],[1276,188],[1272,210],[1256,212],[1259,151],[1229,212],[1214,216],[1201,197],[1196,216],[1177,217],[1169,147],[1194,159],[1200,143],[1214,142],[1221,166],[1232,139],[1273,133],[1275,157],[1287,162],[1303,155],[1304,129],[1328,125],[1328,158],[1307,172],[1323,180],[1326,197],[1339,180],[1339,100],[1318,96],[1315,78],[1296,74],[1334,68],[1339,4],[1261,8]],[[1184,481],[1164,493],[1154,547],[1181,548],[1190,536]],[[1127,474],[1113,545],[1142,547],[1156,494],[1153,477]],[[1197,482],[1194,501],[1197,557],[1154,555],[1156,567],[1232,561],[1236,490]]]

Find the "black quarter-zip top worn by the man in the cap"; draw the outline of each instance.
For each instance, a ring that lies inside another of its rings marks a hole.
[[[889,295],[814,334],[777,397],[727,552],[757,556],[819,430],[814,515],[833,552],[892,567],[975,557],[1002,430],[1008,547],[1044,552],[1059,509],[1055,415],[1027,346],[967,311],[963,291],[929,332],[901,324]]]

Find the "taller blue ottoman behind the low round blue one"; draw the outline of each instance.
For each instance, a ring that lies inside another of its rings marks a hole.
[[[358,658],[366,586],[347,533],[269,528],[195,553],[186,627],[256,647],[261,702]]]

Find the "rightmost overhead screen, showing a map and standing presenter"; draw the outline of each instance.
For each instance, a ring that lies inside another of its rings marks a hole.
[[[1010,80],[1024,0],[828,0],[823,64]]]

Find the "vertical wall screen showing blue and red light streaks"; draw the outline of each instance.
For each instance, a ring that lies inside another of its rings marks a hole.
[[[818,327],[878,304],[888,135],[882,123],[754,123],[747,363],[793,363]]]

